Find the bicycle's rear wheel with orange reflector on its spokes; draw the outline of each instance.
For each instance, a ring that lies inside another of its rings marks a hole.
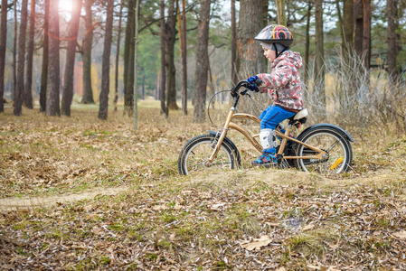
[[[341,132],[328,126],[320,126],[299,135],[300,141],[317,147],[327,153],[326,158],[297,159],[297,168],[305,172],[316,172],[325,176],[337,173],[345,173],[353,162],[353,151],[350,142]],[[304,145],[297,146],[297,156],[316,155]]]

